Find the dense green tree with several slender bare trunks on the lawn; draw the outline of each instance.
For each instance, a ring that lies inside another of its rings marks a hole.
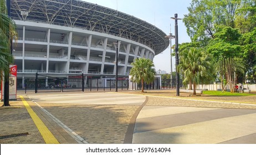
[[[214,35],[216,38],[209,42],[208,51],[219,64],[222,84],[223,76],[226,76],[231,92],[234,92],[236,62],[234,58],[241,56],[240,33],[238,29],[219,27],[219,32]]]

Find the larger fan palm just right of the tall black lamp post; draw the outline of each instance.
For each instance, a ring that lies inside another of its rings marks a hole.
[[[177,69],[179,71],[183,69],[187,78],[185,80],[191,80],[193,95],[196,95],[196,84],[202,79],[211,79],[212,77],[211,56],[204,54],[202,48],[183,50],[182,55],[181,63],[177,66]]]

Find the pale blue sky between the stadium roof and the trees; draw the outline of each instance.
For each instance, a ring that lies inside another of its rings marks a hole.
[[[192,0],[83,0],[89,3],[98,4],[117,11],[129,14],[146,22],[155,25],[167,35],[170,30],[175,35],[175,20],[171,19],[174,14],[178,14],[178,18],[183,18],[184,14],[188,14],[187,7],[190,6]],[[182,20],[178,20],[178,43],[191,42],[187,35],[185,24]],[[172,39],[172,45],[175,39]],[[172,50],[173,51],[173,50]],[[171,49],[170,46],[161,54],[153,59],[155,69],[171,72]],[[175,56],[172,57],[172,71],[175,71]]]

